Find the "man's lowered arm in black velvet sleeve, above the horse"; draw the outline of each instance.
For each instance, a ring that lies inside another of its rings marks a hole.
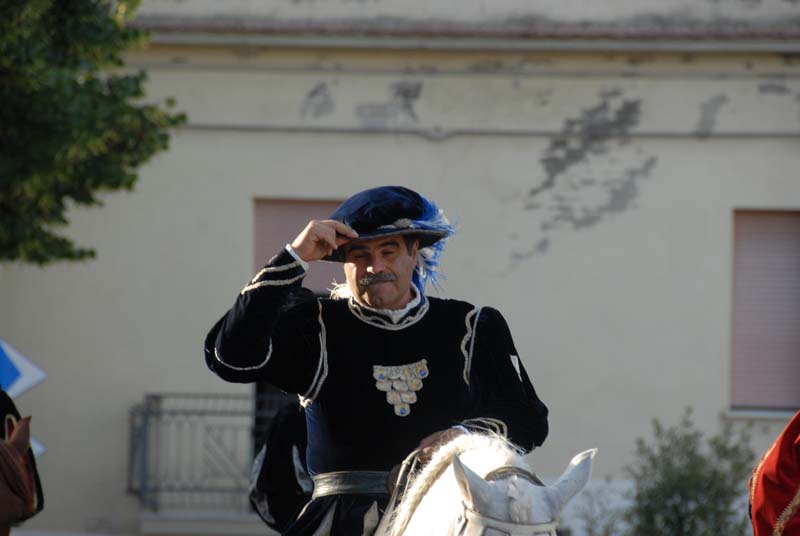
[[[470,369],[470,394],[478,419],[474,426],[481,427],[484,419],[526,450],[541,445],[548,432],[547,406],[539,400],[500,312],[482,309],[474,337]],[[469,421],[465,425],[471,427]]]

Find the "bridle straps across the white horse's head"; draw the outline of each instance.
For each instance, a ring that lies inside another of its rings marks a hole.
[[[518,476],[536,486],[544,486],[544,483],[536,474],[526,471],[520,467],[503,466],[491,471],[484,480],[504,480]],[[465,503],[461,503],[463,511],[456,518],[450,529],[448,536],[488,536],[487,529],[491,529],[492,535],[499,536],[557,536],[556,529],[558,521],[550,523],[535,523],[532,525],[522,525],[519,523],[509,523],[493,517],[479,514],[471,510]]]

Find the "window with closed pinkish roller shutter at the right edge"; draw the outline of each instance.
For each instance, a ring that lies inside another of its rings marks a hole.
[[[800,408],[800,212],[734,213],[734,409]]]

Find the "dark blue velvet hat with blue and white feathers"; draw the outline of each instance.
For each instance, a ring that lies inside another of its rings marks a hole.
[[[454,232],[435,203],[402,186],[381,186],[359,192],[339,205],[329,219],[355,229],[359,240],[413,235],[419,240],[414,279],[420,288],[424,288],[427,280],[435,284],[439,256],[446,239]],[[339,249],[324,260],[344,262],[344,252]]]

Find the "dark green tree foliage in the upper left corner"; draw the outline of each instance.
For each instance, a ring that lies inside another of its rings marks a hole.
[[[0,0],[0,261],[93,257],[56,234],[70,204],[130,190],[182,114],[142,101],[122,54],[137,0]]]

